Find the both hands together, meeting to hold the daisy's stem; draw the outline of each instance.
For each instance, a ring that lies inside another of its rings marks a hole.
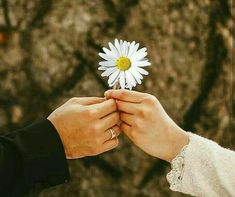
[[[48,117],[67,159],[112,150],[122,132],[147,154],[168,162],[188,143],[187,133],[153,95],[129,90],[108,90],[104,95],[72,98]]]

